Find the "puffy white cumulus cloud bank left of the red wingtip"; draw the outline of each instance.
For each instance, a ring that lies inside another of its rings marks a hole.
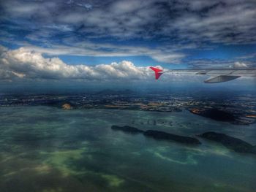
[[[0,47],[0,79],[71,79],[71,80],[147,80],[152,77],[148,67],[129,61],[97,66],[67,65],[59,58],[44,58],[41,53],[24,49]]]

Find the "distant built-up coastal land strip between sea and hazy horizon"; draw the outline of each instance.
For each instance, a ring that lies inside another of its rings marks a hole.
[[[35,106],[48,105],[66,110],[143,110],[151,112],[181,112],[188,110],[213,120],[225,121],[238,125],[256,122],[256,98],[252,94],[229,97],[212,97],[204,93],[198,96],[179,93],[141,94],[129,89],[105,89],[96,93],[75,95],[1,95],[0,106]]]

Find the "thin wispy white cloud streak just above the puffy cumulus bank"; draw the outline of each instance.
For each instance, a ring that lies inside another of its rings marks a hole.
[[[106,43],[92,43],[86,41],[75,42],[67,40],[66,45],[50,45],[50,47],[38,47],[23,44],[23,49],[36,51],[47,55],[82,55],[82,56],[101,56],[101,57],[121,57],[121,56],[148,56],[155,61],[167,64],[179,64],[184,53],[176,50],[165,50],[161,47],[148,48],[129,45],[111,45]]]

